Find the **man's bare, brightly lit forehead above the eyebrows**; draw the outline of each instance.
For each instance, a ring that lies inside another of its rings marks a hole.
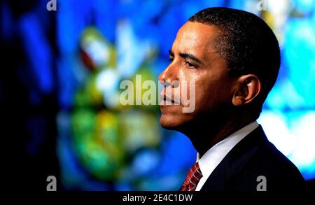
[[[186,22],[179,29],[172,50],[174,52],[197,52],[195,55],[201,52],[216,52],[214,42],[218,34],[220,34],[220,30],[213,25]]]

